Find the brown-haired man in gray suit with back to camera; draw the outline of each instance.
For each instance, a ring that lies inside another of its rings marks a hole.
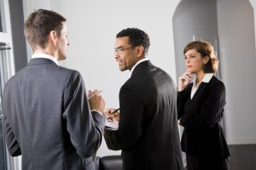
[[[58,65],[67,54],[65,21],[49,10],[30,14],[32,59],[4,87],[6,143],[11,156],[22,155],[24,170],[93,169],[90,157],[102,142],[104,99],[97,90],[87,98],[79,72]]]

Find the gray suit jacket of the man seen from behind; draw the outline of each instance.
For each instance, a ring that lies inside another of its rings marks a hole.
[[[49,59],[31,59],[3,91],[6,144],[24,170],[82,170],[100,146],[105,117],[90,112],[83,78]],[[91,167],[93,168],[93,167]]]

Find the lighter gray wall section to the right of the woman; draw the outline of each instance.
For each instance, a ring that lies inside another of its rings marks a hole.
[[[256,144],[253,7],[247,0],[218,0],[217,7],[227,139],[230,144]]]

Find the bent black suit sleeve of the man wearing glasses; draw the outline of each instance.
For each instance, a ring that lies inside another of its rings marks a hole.
[[[104,134],[108,148],[125,150],[137,143],[143,129],[143,98],[131,85],[123,86],[119,92],[120,119],[117,131]]]

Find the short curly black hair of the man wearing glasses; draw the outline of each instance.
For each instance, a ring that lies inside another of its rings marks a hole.
[[[116,35],[119,37],[129,37],[129,41],[132,47],[137,47],[142,45],[144,48],[144,54],[148,54],[148,48],[150,46],[150,41],[148,34],[137,28],[126,28]]]

